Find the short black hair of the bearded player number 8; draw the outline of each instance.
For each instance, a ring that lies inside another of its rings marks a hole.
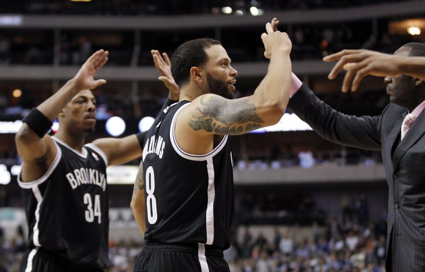
[[[171,74],[180,88],[188,82],[190,68],[204,65],[208,60],[205,50],[215,45],[221,46],[221,42],[203,38],[186,41],[176,49],[171,57]]]

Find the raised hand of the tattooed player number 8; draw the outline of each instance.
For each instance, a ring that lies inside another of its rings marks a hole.
[[[277,30],[279,21],[277,18],[273,18],[271,22],[266,24],[266,32],[261,35],[261,39],[264,43],[264,56],[270,59],[271,55],[277,51],[291,52],[292,43],[288,37],[288,34]]]

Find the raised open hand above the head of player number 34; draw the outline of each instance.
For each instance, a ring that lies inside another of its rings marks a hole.
[[[91,55],[84,64],[82,64],[80,70],[73,78],[73,81],[79,90],[94,89],[106,83],[106,80],[95,80],[94,77],[101,67],[103,67],[103,65],[105,65],[108,61],[108,54],[108,51],[104,51],[103,49],[98,50]]]

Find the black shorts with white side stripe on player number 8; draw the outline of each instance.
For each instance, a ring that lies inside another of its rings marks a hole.
[[[134,272],[230,272],[215,246],[148,243],[137,256]]]

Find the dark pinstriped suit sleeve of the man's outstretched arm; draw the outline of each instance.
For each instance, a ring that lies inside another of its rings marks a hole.
[[[305,84],[289,99],[288,108],[329,141],[356,148],[381,149],[381,116],[342,114],[318,99]]]

